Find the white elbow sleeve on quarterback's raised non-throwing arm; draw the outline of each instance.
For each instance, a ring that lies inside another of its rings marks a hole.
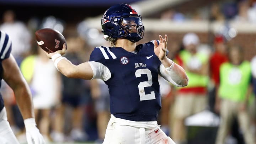
[[[178,87],[183,87],[185,85],[180,85],[181,78],[172,68],[174,67],[175,63],[173,62],[169,68],[165,68],[163,64],[159,67],[159,75],[162,76],[165,80],[171,82],[173,85]]]

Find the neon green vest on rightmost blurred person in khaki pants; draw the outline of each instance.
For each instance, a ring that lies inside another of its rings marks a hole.
[[[247,61],[236,66],[231,63],[223,63],[220,66],[220,97],[235,102],[245,100],[247,89],[251,81],[251,66]]]

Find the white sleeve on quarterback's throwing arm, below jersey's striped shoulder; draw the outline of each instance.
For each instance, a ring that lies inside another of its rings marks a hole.
[[[103,81],[107,81],[108,79],[111,78],[111,72],[107,68],[107,66],[103,65],[102,63],[99,62],[87,62],[90,64],[91,69],[94,73],[94,76],[92,79],[102,79]]]

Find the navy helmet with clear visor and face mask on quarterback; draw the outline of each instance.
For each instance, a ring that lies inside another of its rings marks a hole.
[[[101,18],[104,38],[125,38],[138,42],[144,36],[142,17],[127,4],[111,6]]]

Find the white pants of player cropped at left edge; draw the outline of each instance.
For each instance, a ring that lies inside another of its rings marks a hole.
[[[0,144],[19,144],[7,121],[5,107],[0,112]]]

